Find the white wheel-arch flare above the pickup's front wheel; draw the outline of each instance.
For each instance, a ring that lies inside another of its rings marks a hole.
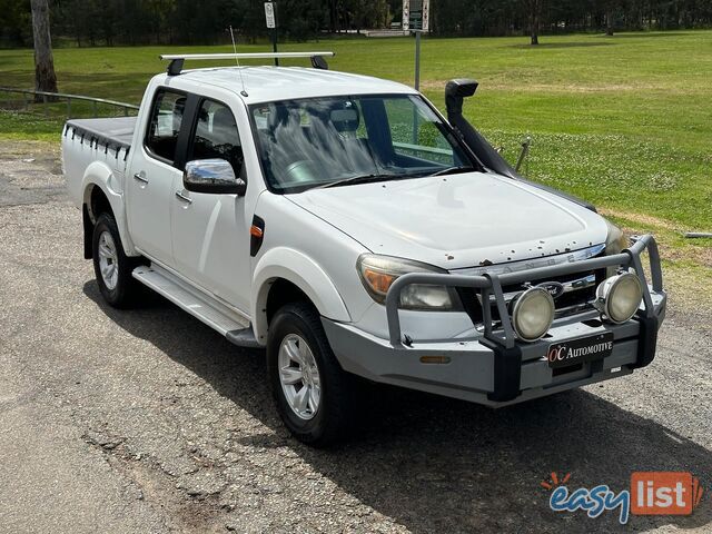
[[[273,248],[257,261],[253,274],[253,328],[260,340],[267,336],[267,296],[271,283],[284,278],[301,289],[324,317],[350,322],[350,315],[329,276],[305,254],[287,248]]]

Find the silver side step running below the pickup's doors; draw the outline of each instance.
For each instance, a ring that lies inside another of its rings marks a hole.
[[[139,266],[134,269],[131,275],[179,308],[222,334],[230,343],[240,347],[259,347],[253,327],[245,317],[184,283],[166,269],[156,265],[151,267]]]

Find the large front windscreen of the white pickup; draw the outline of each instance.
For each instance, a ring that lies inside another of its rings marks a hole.
[[[309,98],[250,107],[259,156],[275,192],[354,177],[431,176],[477,164],[418,96]]]

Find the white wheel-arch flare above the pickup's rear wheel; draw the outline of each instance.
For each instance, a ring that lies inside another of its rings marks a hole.
[[[82,205],[87,207],[91,206],[91,191],[95,187],[98,187],[101,192],[109,200],[111,211],[116,224],[119,228],[119,236],[121,237],[121,244],[123,251],[127,256],[138,256],[139,253],[134,246],[134,240],[129,235],[128,224],[126,220],[126,209],[123,205],[123,184],[120,178],[117,178],[113,170],[102,161],[92,161],[85,170],[85,176],[81,180]],[[96,220],[95,214],[90,214],[92,221]]]

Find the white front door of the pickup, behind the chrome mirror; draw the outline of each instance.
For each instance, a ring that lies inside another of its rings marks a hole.
[[[202,99],[197,106],[186,160],[220,158],[244,174],[235,116],[226,105]],[[177,270],[191,281],[247,313],[249,225],[245,197],[188,191],[182,176],[174,181],[172,250]]]

